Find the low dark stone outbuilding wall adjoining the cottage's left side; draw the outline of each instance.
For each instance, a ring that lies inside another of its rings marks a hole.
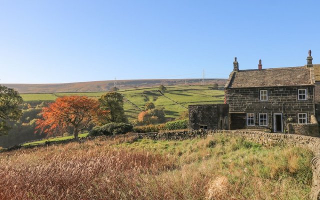
[[[208,129],[228,129],[227,104],[189,105],[189,128],[200,129],[207,125]]]

